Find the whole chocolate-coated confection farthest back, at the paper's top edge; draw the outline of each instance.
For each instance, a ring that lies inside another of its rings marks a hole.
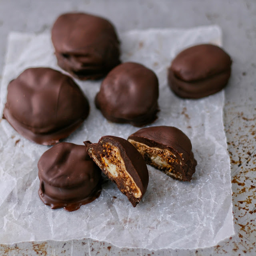
[[[119,40],[104,18],[66,13],[52,27],[58,65],[80,79],[99,79],[120,63]]]

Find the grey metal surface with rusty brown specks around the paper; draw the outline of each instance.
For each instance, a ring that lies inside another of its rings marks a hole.
[[[255,0],[0,0],[0,70],[10,30],[49,31],[58,14],[70,10],[108,17],[119,32],[208,24],[222,27],[224,48],[233,60],[232,77],[225,89],[224,124],[231,162],[236,235],[214,247],[197,250],[117,248],[106,242],[82,239],[2,244],[0,255],[256,255]]]

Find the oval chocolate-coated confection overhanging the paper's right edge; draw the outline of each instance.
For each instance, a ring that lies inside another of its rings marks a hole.
[[[181,98],[202,98],[226,86],[231,72],[230,56],[220,47],[200,44],[180,52],[168,70],[172,91]]]

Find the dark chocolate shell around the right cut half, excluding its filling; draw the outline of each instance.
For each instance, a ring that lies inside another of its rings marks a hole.
[[[182,180],[191,180],[195,172],[196,160],[192,152],[190,139],[180,129],[172,126],[152,126],[142,128],[128,137],[128,140],[143,143],[150,148],[160,148],[174,153],[180,162],[176,171],[182,174]],[[151,164],[144,158],[147,164]],[[156,166],[154,166],[156,167]]]

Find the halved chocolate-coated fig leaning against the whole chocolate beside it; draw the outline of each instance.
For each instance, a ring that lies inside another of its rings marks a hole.
[[[123,138],[103,136],[98,143],[85,141],[87,152],[135,207],[148,187],[148,168],[142,156]]]

